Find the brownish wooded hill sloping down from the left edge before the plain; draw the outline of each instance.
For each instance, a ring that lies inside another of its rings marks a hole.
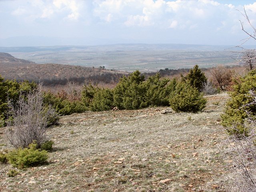
[[[124,72],[103,70],[83,66],[63,64],[37,64],[29,60],[18,59],[8,53],[0,53],[0,75],[6,79],[44,82],[46,85],[66,84],[68,81],[84,83],[110,83],[117,80]]]

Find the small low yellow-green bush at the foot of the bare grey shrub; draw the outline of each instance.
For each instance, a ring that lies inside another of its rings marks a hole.
[[[48,159],[46,150],[36,149],[36,144],[30,144],[29,148],[18,148],[8,152],[7,160],[14,167],[26,168],[40,165]]]

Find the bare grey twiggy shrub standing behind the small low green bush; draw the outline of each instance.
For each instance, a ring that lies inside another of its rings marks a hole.
[[[20,95],[18,103],[10,110],[7,120],[6,136],[15,148],[27,148],[36,142],[38,148],[46,141],[45,132],[49,117],[54,115],[52,108],[44,108],[42,84],[27,97]]]

